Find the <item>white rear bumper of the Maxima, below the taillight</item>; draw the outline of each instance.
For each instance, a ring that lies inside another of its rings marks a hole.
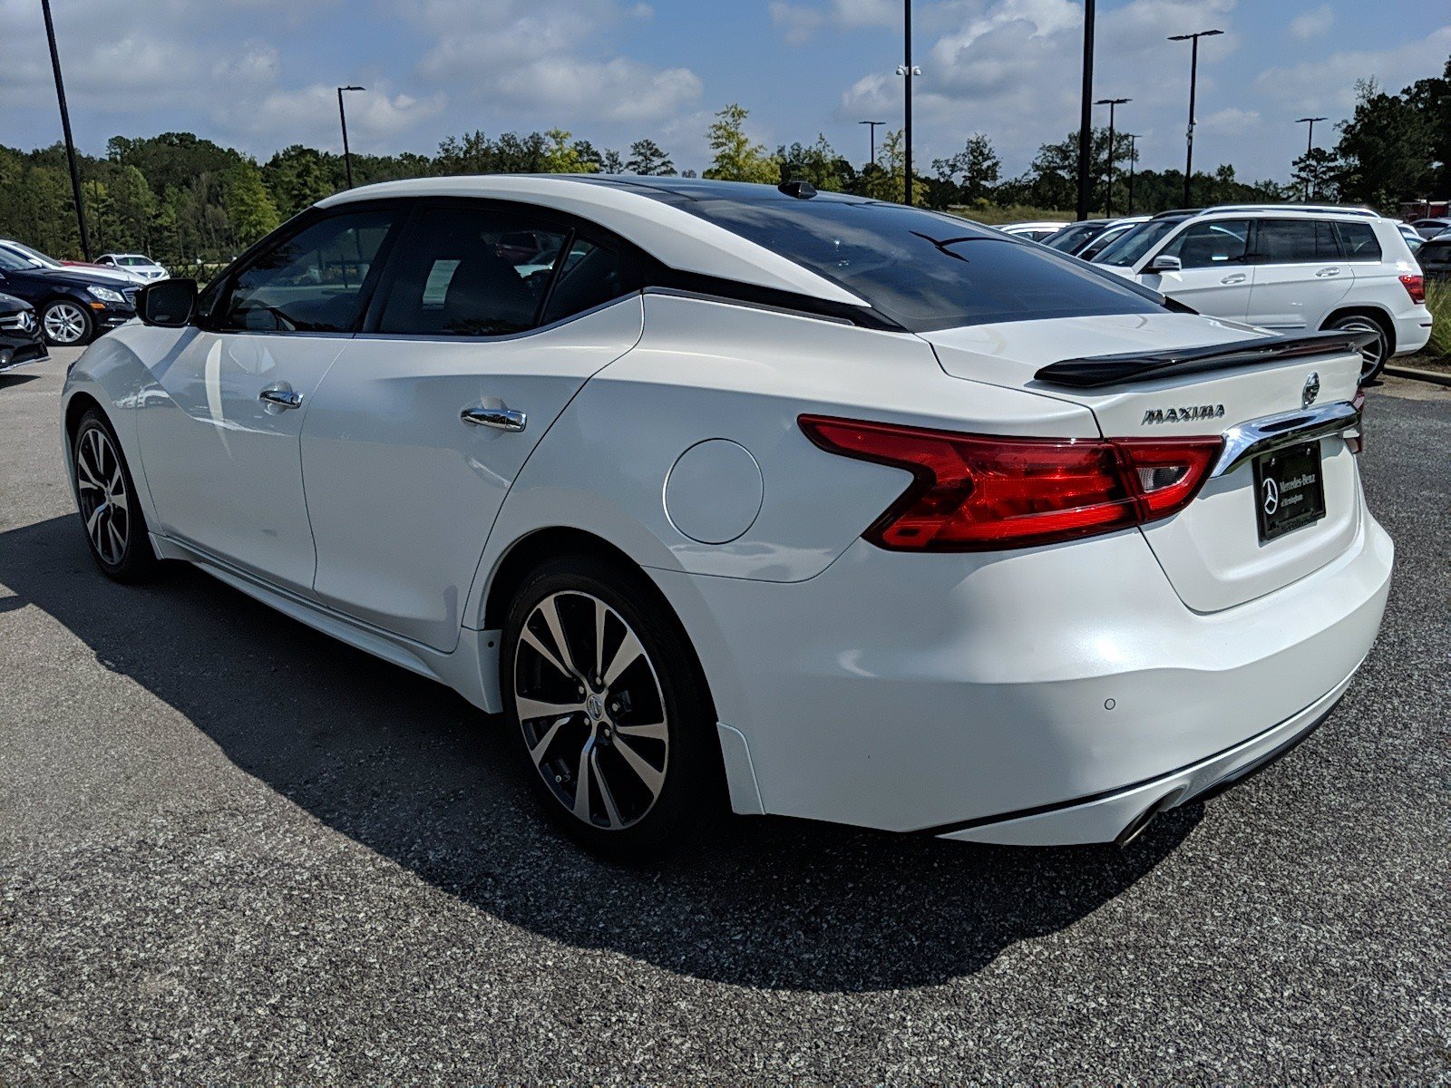
[[[1213,614],[1184,606],[1138,532],[1003,556],[858,541],[800,583],[651,573],[740,735],[739,811],[1101,841],[1125,811],[1209,789],[1345,691],[1394,551],[1361,522],[1322,569]],[[1062,814],[1013,827],[1045,808]]]

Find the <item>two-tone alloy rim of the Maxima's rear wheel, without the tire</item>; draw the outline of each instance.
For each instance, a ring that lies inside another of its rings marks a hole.
[[[576,820],[620,831],[654,807],[670,754],[665,693],[638,635],[604,601],[566,590],[534,606],[514,705],[535,770]]]

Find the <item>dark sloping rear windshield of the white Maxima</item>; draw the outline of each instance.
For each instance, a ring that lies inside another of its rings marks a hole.
[[[904,205],[775,191],[659,197],[824,276],[913,332],[1162,309],[1055,250]]]

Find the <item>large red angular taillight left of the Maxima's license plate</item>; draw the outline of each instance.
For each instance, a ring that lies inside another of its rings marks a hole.
[[[1223,440],[1001,438],[804,415],[827,453],[916,479],[863,537],[904,551],[994,551],[1142,525],[1184,509]]]

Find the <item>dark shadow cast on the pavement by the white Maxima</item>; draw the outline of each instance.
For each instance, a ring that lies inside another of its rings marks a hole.
[[[62,516],[0,532],[0,586],[264,786],[463,902],[736,985],[879,991],[972,973],[1122,894],[1201,818],[1170,812],[1123,850],[737,818],[669,867],[621,869],[543,824],[498,720],[197,570],[113,585]]]

